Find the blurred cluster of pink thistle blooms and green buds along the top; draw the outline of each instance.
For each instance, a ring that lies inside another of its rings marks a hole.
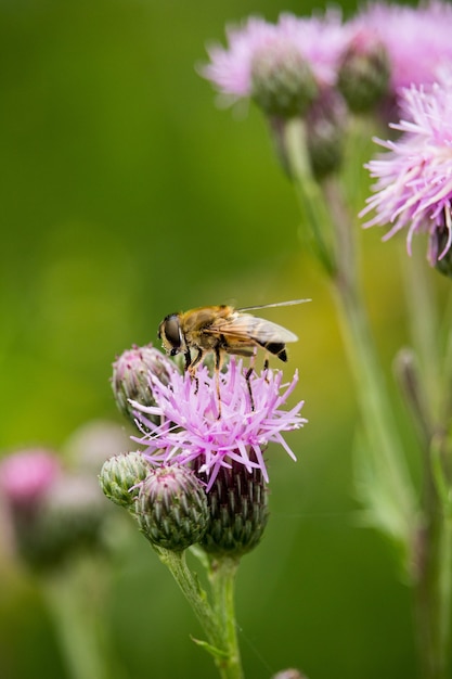
[[[452,8],[441,0],[418,8],[371,3],[348,21],[332,10],[285,13],[274,24],[250,17],[228,30],[227,48],[208,50],[203,75],[223,97],[257,102],[280,150],[281,124],[302,119],[307,157],[323,179],[341,164],[348,126],[322,100],[343,99],[349,118],[397,112],[402,88],[431,86],[452,62],[451,26]],[[284,149],[280,155],[285,162]]]

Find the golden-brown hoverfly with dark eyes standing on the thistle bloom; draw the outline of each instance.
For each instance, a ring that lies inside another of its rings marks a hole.
[[[170,356],[176,356],[177,354],[184,355],[185,370],[193,377],[195,377],[196,366],[206,354],[212,353],[217,373],[218,397],[220,392],[219,371],[223,355],[250,356],[251,364],[247,372],[247,382],[253,403],[249,376],[254,369],[254,360],[258,348],[262,347],[267,353],[264,359],[266,370],[269,366],[268,354],[286,361],[285,345],[288,342],[296,342],[298,337],[286,328],[257,318],[251,313],[247,313],[247,311],[292,306],[305,302],[310,302],[310,299],[294,299],[292,302],[264,304],[242,309],[234,309],[234,307],[228,305],[198,307],[190,311],[170,313],[162,321],[158,328],[158,337],[162,340],[167,354]],[[194,356],[192,355],[192,349],[196,351]]]

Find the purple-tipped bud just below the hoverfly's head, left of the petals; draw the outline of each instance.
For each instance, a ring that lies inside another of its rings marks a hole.
[[[134,422],[130,400],[142,406],[155,406],[150,374],[167,385],[175,370],[173,363],[151,344],[144,347],[133,346],[124,351],[113,363],[112,379],[113,393],[121,413]],[[150,414],[148,418],[159,424],[158,415]]]

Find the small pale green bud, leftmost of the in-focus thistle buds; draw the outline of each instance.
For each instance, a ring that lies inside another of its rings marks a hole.
[[[133,510],[139,494],[138,484],[143,482],[151,465],[141,452],[126,452],[104,462],[99,483],[108,500],[128,510]]]

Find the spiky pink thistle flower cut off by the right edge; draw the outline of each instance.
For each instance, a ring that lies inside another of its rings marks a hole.
[[[392,223],[384,240],[408,228],[409,254],[414,233],[427,232],[434,266],[452,244],[452,74],[428,92],[405,90],[402,103],[406,118],[391,126],[402,137],[375,140],[389,152],[366,166],[377,182],[360,216],[375,210],[366,227]]]

